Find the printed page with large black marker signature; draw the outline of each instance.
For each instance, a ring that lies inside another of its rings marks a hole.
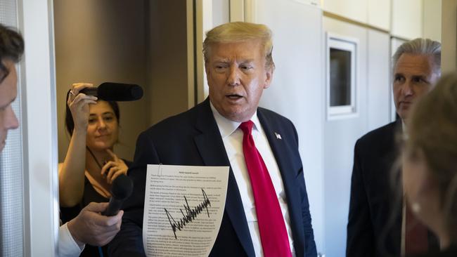
[[[148,165],[146,256],[208,256],[221,226],[228,166]]]

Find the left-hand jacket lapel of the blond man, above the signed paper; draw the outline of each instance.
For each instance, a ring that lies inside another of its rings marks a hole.
[[[208,98],[200,107],[200,113],[195,127],[201,131],[199,135],[195,136],[194,141],[205,166],[230,166],[224,142],[211,112],[210,100]],[[238,185],[236,184],[236,179],[231,168],[228,173],[225,211],[247,255],[255,256],[254,246],[252,246],[252,239],[247,227],[243,202],[241,202]]]

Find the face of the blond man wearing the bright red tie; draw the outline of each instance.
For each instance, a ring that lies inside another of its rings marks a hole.
[[[239,122],[252,117],[273,76],[265,61],[257,39],[212,44],[205,70],[211,103],[222,116]]]

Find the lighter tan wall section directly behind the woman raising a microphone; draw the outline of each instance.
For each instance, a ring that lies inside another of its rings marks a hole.
[[[54,1],[59,162],[65,158],[65,94],[72,83],[146,84],[145,2]],[[148,125],[148,98],[120,103],[120,157],[133,159],[136,137]]]

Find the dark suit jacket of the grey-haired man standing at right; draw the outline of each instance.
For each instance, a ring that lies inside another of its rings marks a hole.
[[[354,147],[346,256],[400,256],[403,192],[396,143],[401,121],[367,133]],[[398,167],[399,168],[399,167]],[[397,188],[397,189],[394,189]],[[437,249],[429,232],[429,249]]]

